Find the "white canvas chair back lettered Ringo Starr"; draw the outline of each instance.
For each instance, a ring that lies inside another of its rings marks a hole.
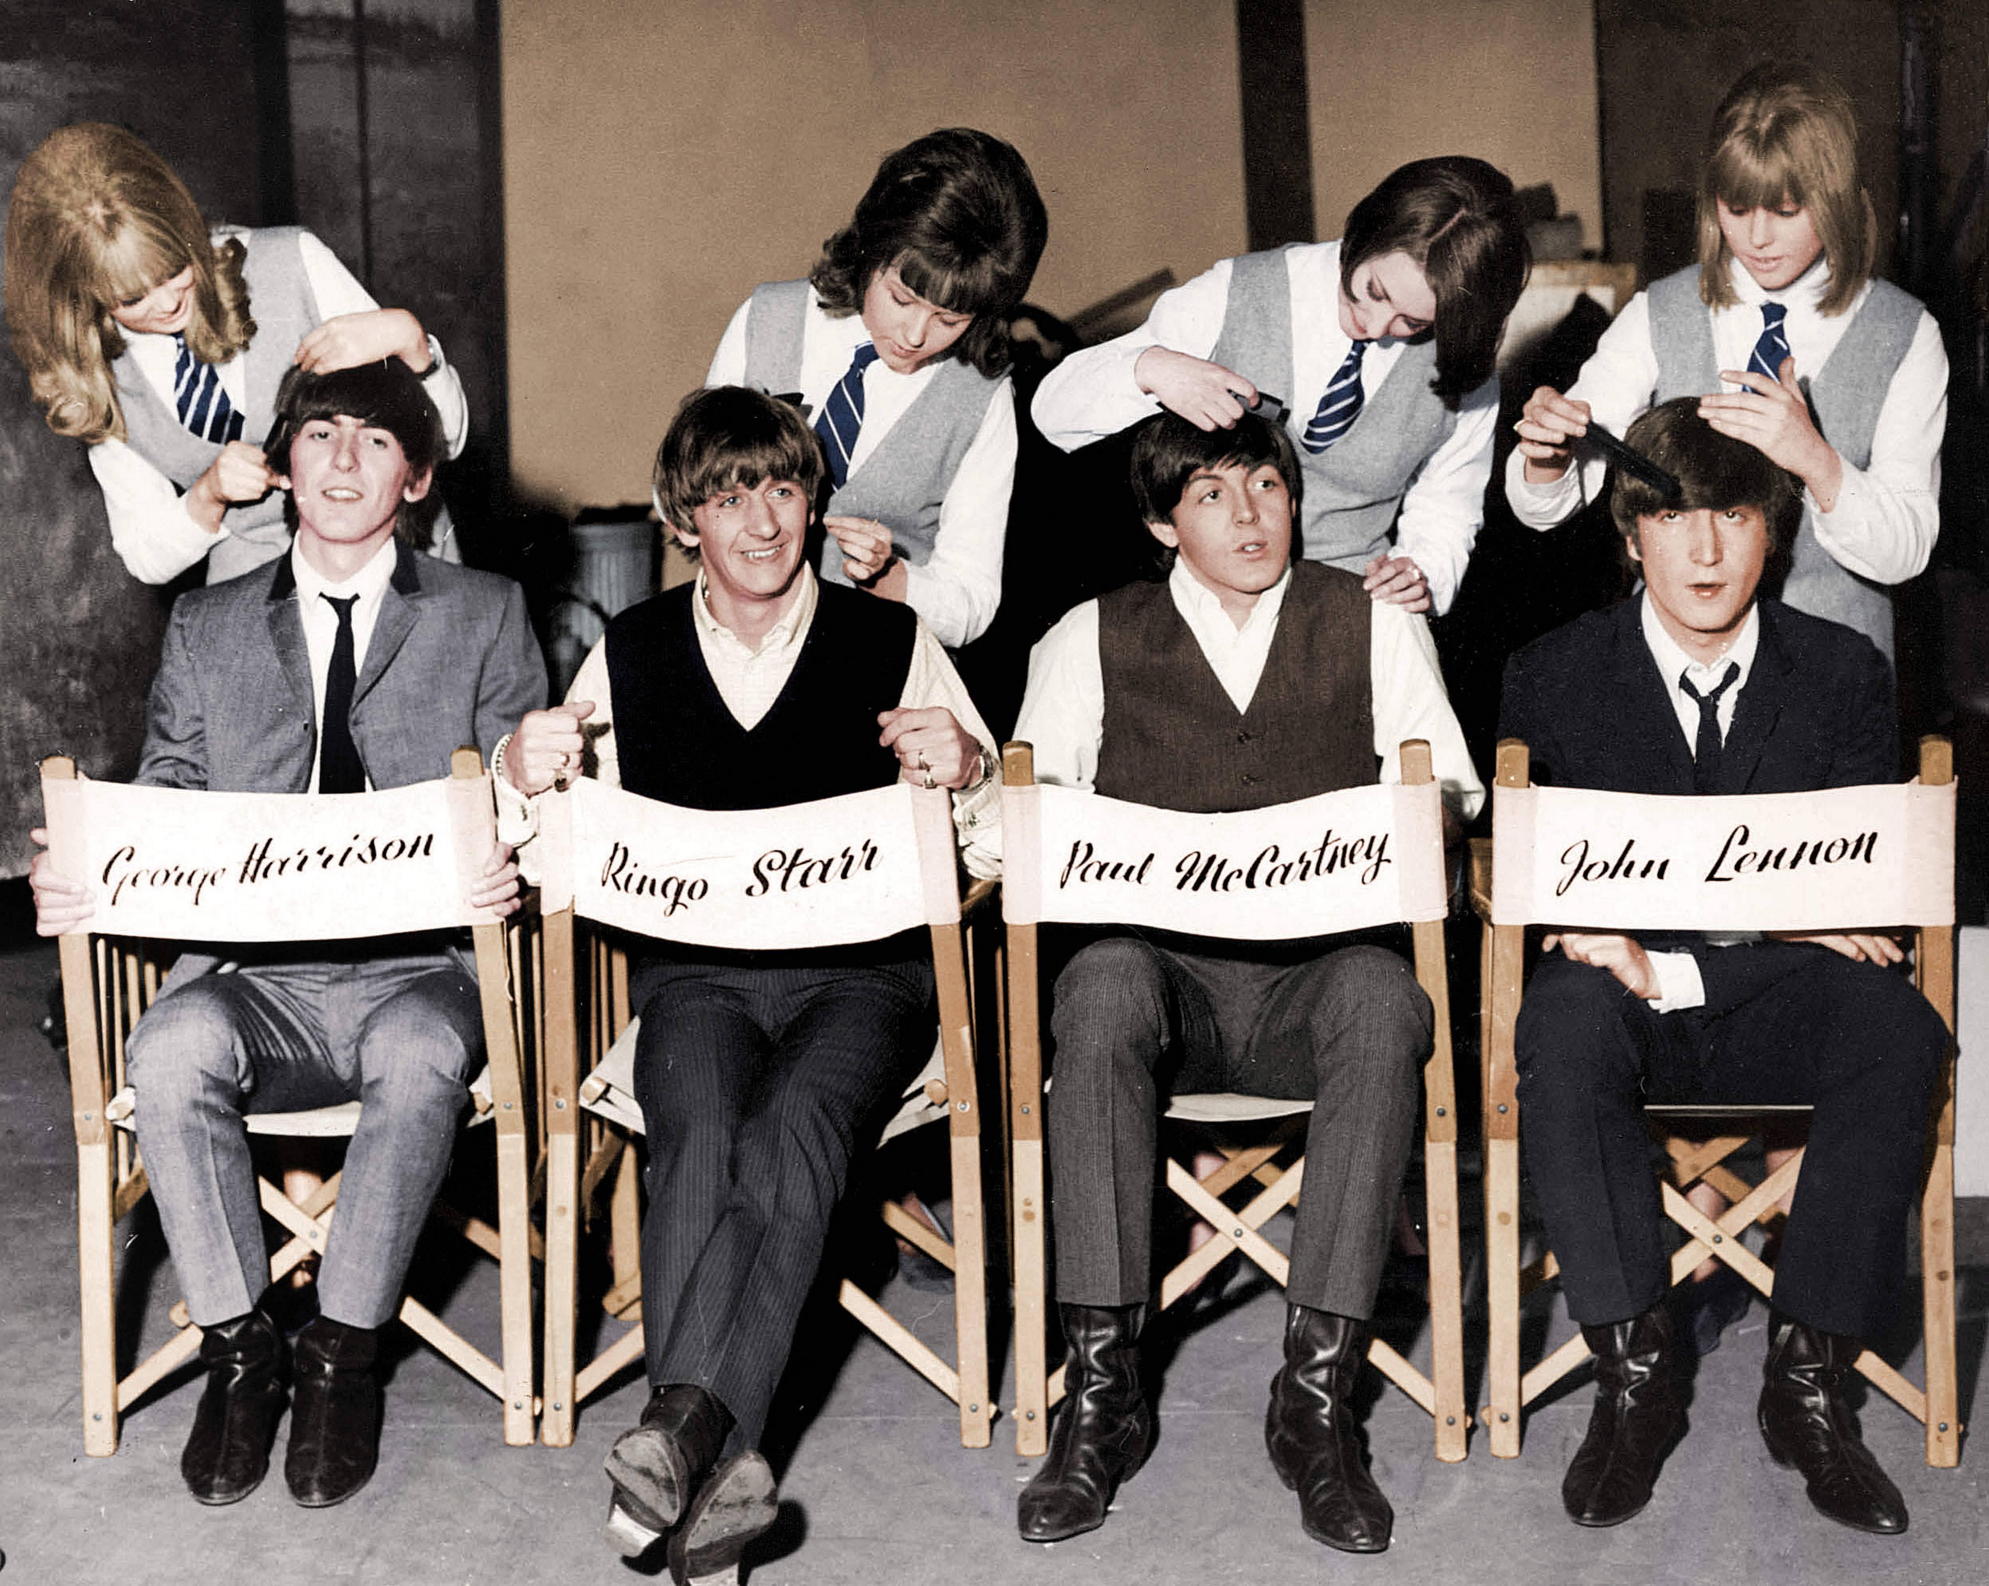
[[[547,909],[571,901],[668,941],[808,947],[959,913],[947,794],[903,782],[778,810],[684,810],[581,782],[545,800],[541,834]],[[931,897],[921,840],[939,872]]]

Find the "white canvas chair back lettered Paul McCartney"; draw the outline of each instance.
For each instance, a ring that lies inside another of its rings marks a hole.
[[[1444,915],[1436,784],[1197,816],[1054,786],[1002,794],[1016,921],[1277,939]],[[1034,876],[1022,856],[1036,854]]]

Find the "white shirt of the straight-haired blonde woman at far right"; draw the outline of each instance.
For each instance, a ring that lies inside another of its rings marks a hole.
[[[1818,259],[1798,281],[1766,293],[1732,261],[1730,275],[1738,304],[1713,314],[1713,356],[1720,368],[1746,368],[1760,340],[1760,304],[1774,300],[1788,308],[1782,332],[1796,360],[1796,376],[1822,370],[1872,295],[1872,283],[1852,298],[1842,314],[1822,314],[1818,304],[1830,289],[1830,263]],[[1575,402],[1605,430],[1621,436],[1631,420],[1651,408],[1657,394],[1657,350],[1651,346],[1651,298],[1637,293],[1595,344],[1581,376],[1567,388]],[[1738,390],[1722,384],[1720,390]],[[1802,515],[1816,541],[1844,567],[1876,583],[1905,583],[1927,565],[1941,533],[1941,434],[1947,428],[1947,350],[1933,316],[1921,310],[1913,340],[1886,386],[1878,424],[1872,430],[1872,458],[1864,470],[1844,464],[1844,486],[1836,505],[1824,511],[1802,492]],[[1575,454],[1575,466],[1547,484],[1526,482],[1526,458],[1518,452],[1506,464],[1506,499],[1514,515],[1536,529],[1551,529],[1583,501],[1593,501],[1609,466],[1589,452]]]

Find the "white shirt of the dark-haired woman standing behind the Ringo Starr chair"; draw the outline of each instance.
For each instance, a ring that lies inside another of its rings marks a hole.
[[[718,340],[706,386],[738,386],[746,380],[746,320],[752,298],[738,306]],[[808,289],[802,316],[802,400],[810,424],[821,416],[829,392],[849,372],[849,360],[869,340],[863,314],[823,312],[815,289]],[[869,460],[877,444],[905,416],[905,410],[939,374],[935,358],[911,374],[893,372],[883,358],[863,370],[863,426],[857,430],[849,472]],[[1004,376],[989,398],[981,428],[961,456],[961,466],[939,503],[939,533],[923,567],[905,563],[905,605],[939,635],[939,643],[959,649],[979,639],[1000,605],[1000,563],[1008,535],[1008,496],[1014,490],[1014,388]]]

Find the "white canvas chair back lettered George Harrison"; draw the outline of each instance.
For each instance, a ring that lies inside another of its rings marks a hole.
[[[95,895],[84,929],[282,941],[493,917],[461,903],[491,842],[481,778],[332,798],[70,780],[42,794],[58,868]]]

